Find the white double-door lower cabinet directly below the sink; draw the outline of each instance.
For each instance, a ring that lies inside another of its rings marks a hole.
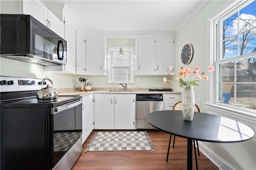
[[[135,94],[94,94],[95,129],[135,129]]]

